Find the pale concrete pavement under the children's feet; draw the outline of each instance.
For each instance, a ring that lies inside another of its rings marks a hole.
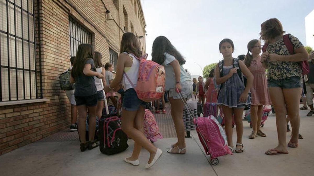
[[[107,156],[100,153],[98,148],[80,152],[77,132],[63,131],[0,156],[0,173],[3,176],[312,175],[314,170],[314,151],[312,149],[314,116],[306,117],[307,112],[300,111],[300,133],[304,139],[299,140],[299,148],[288,148],[288,155],[267,156],[264,154],[267,149],[273,148],[277,144],[275,118],[269,116],[262,128],[267,134],[267,137],[264,138],[248,139],[252,129],[249,127],[249,123],[243,121],[245,152],[219,157],[219,164],[216,166],[211,166],[208,162],[210,158],[202,152],[203,147],[195,131],[191,132],[193,138],[186,140],[187,153],[185,155],[166,152],[166,148],[176,142],[176,138],[164,138],[155,142],[154,145],[161,148],[164,153],[150,169],[145,169],[149,153],[144,149],[140,154],[139,166],[135,167],[123,161],[123,158],[132,153],[133,140],[129,140],[130,147],[125,152]],[[160,121],[160,118],[169,121],[170,116],[167,114],[157,115],[157,121]],[[159,125],[167,133],[165,125],[162,123]],[[168,125],[173,127],[173,124]],[[234,128],[234,143],[236,142],[235,133]],[[289,136],[290,133],[287,133],[287,142]]]

